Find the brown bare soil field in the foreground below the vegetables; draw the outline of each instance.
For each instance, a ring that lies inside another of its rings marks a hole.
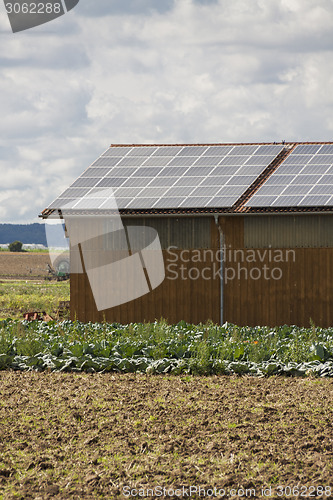
[[[332,410],[330,379],[0,372],[0,492],[333,498]]]

